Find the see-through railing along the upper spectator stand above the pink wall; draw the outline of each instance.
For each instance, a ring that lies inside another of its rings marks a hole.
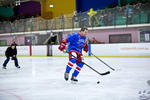
[[[45,20],[41,17],[0,22],[0,33],[31,32],[101,26],[118,26],[150,23],[150,4],[126,5],[97,10],[89,17],[88,12],[76,13],[72,17],[60,16]]]

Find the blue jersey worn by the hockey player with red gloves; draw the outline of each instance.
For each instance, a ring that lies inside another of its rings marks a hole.
[[[66,41],[68,43],[68,51],[75,51],[82,54],[86,37],[81,36],[80,33],[72,33],[67,37]]]

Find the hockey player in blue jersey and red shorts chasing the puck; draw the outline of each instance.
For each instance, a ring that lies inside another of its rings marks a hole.
[[[69,79],[69,73],[73,68],[73,65],[76,63],[76,68],[72,73],[71,80],[77,82],[76,77],[83,67],[82,63],[82,50],[88,52],[88,45],[86,44],[86,35],[88,33],[87,28],[81,28],[80,32],[70,34],[66,39],[64,39],[58,49],[63,51],[68,43],[68,53],[69,53],[69,62],[66,66],[66,71],[64,73],[64,78],[67,81]],[[76,58],[72,57],[74,55]]]

